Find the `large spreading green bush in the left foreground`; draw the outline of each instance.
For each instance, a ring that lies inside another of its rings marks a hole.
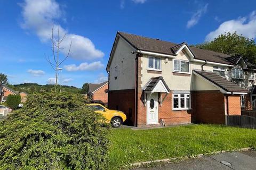
[[[109,130],[80,95],[34,94],[0,122],[0,169],[104,169]]]

